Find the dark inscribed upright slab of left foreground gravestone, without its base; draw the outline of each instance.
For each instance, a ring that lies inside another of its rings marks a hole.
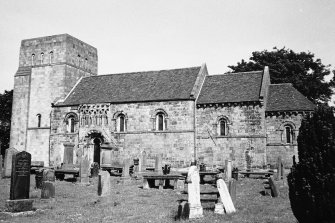
[[[13,155],[10,199],[29,199],[31,155],[25,151]]]

